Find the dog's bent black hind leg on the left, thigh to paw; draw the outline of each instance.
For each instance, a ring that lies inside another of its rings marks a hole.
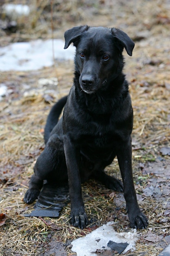
[[[44,180],[56,185],[68,180],[63,143],[55,134],[51,136],[35,163],[34,174],[25,193],[24,202],[30,204],[38,198]]]

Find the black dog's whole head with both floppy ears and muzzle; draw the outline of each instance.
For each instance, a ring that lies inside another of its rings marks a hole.
[[[64,49],[76,47],[75,71],[81,89],[87,94],[106,90],[123,69],[122,52],[132,56],[135,46],[130,37],[115,28],[79,26],[68,29]]]

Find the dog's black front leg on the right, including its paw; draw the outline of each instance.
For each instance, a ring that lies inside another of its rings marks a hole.
[[[148,220],[144,213],[141,212],[137,203],[135,187],[132,175],[132,146],[131,138],[120,144],[117,150],[117,159],[124,184],[124,197],[126,208],[132,228],[143,229],[148,226]]]

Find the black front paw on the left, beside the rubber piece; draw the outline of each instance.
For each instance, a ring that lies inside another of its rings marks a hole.
[[[70,223],[74,227],[84,229],[88,225],[88,217],[83,207],[71,211]]]

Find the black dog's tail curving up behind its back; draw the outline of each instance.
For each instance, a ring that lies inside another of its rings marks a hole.
[[[64,105],[66,104],[67,96],[62,97],[55,105],[51,108],[50,113],[46,120],[46,125],[44,128],[44,141],[45,144],[49,140],[50,133],[55,127],[55,125],[58,122],[58,119],[60,117],[60,114],[62,112],[62,109],[64,108]]]

